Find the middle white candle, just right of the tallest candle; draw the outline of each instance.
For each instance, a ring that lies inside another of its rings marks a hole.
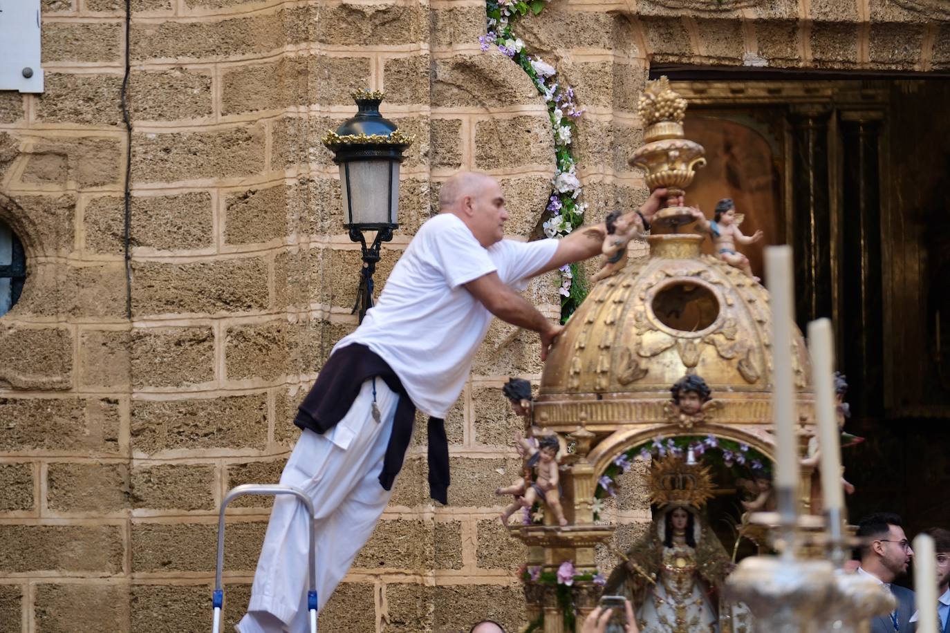
[[[821,455],[822,497],[825,510],[841,510],[845,494],[841,485],[841,431],[838,403],[834,396],[834,360],[831,322],[818,319],[808,324],[808,351],[811,353],[811,381],[815,385],[815,414]]]

